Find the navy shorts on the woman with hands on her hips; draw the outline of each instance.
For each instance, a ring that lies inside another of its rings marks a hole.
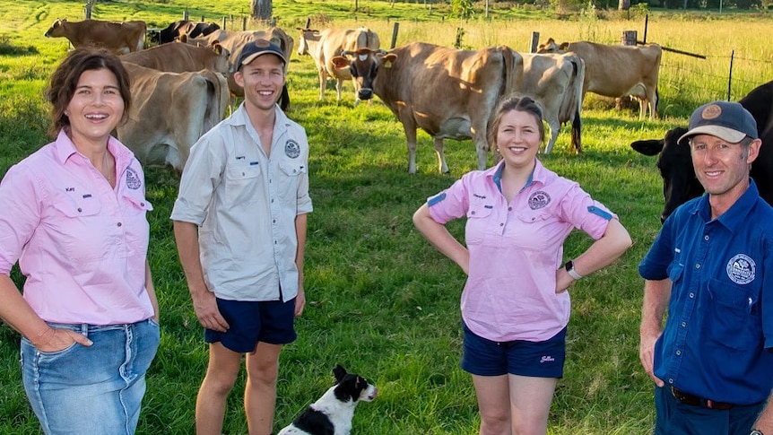
[[[463,323],[465,352],[462,370],[478,376],[506,374],[534,378],[563,378],[567,328],[544,342],[493,342],[475,335]]]

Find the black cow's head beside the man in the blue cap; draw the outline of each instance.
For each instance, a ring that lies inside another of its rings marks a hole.
[[[687,133],[687,128],[677,127],[666,132],[663,139],[636,141],[630,144],[635,151],[644,155],[658,155],[657,169],[663,177],[665,205],[660,216],[661,222],[676,210],[676,207],[703,194],[703,186],[695,177],[687,141],[677,140]]]

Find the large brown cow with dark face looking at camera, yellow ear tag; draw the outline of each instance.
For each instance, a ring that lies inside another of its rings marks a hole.
[[[351,56],[351,57],[350,57]],[[388,53],[360,48],[333,58],[350,67],[360,99],[375,93],[403,124],[408,144],[408,172],[416,172],[416,129],[434,138],[439,170],[447,173],[443,139],[475,143],[478,169],[486,168],[486,137],[499,98],[520,87],[523,58],[511,48],[457,50],[413,42]]]

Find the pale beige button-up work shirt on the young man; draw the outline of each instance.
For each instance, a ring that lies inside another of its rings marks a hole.
[[[268,157],[242,104],[191,148],[171,219],[199,226],[218,298],[287,301],[299,285],[295,218],[311,211],[306,131],[277,108]]]

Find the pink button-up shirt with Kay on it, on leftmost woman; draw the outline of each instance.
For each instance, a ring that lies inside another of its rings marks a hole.
[[[0,183],[0,273],[17,261],[24,299],[48,322],[114,325],[152,317],[149,225],[139,161],[110,138],[113,189],[60,132]]]

